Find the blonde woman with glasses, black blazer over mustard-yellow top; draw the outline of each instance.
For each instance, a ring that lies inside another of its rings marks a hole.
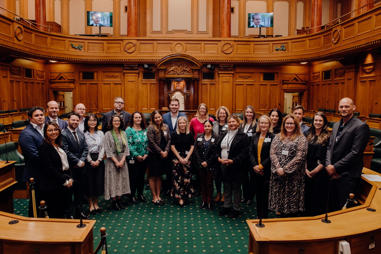
[[[271,120],[267,115],[262,115],[258,119],[256,133],[251,139],[250,146],[250,170],[254,173],[254,188],[256,189],[257,219],[267,219],[269,212],[269,185],[264,186],[264,182],[270,180],[271,160],[270,147],[275,137],[272,133]],[[261,214],[261,209],[262,214]]]

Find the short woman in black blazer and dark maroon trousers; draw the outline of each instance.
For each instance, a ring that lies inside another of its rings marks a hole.
[[[218,135],[212,131],[213,122],[206,120],[204,122],[205,133],[199,133],[194,141],[193,163],[199,169],[201,178],[201,204],[199,208],[204,208],[206,203],[207,209],[213,210],[213,174],[215,165],[215,152],[217,147]]]

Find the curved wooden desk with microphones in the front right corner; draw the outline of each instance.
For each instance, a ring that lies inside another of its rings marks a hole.
[[[364,168],[365,174],[378,174]],[[360,206],[328,214],[330,224],[323,223],[324,215],[287,219],[246,220],[250,228],[249,254],[338,253],[339,239],[351,246],[351,253],[381,253],[381,244],[368,250],[373,237],[381,240],[381,182],[369,182],[362,177],[357,192]],[[376,209],[376,212],[367,211]],[[303,250],[303,252],[301,252]]]

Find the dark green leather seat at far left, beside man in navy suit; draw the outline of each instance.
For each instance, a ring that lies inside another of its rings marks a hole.
[[[16,150],[16,145],[14,142],[8,142],[6,143],[6,150],[8,153],[8,161],[17,161],[14,165],[14,171],[16,175],[16,181],[15,184],[16,189],[26,189],[26,185],[24,182],[22,182],[22,175],[24,174],[24,156],[19,153],[18,150]],[[6,161],[6,153],[5,153],[5,144],[0,145],[0,160]]]

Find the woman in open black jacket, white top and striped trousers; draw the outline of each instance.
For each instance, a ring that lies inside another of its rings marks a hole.
[[[237,115],[227,118],[229,131],[219,137],[217,143],[218,162],[216,165],[215,180],[224,183],[224,209],[219,216],[230,214],[231,218],[239,216],[241,209],[241,184],[247,179],[248,155],[250,141],[247,134],[239,129]],[[234,209],[231,212],[232,195],[234,196]]]

